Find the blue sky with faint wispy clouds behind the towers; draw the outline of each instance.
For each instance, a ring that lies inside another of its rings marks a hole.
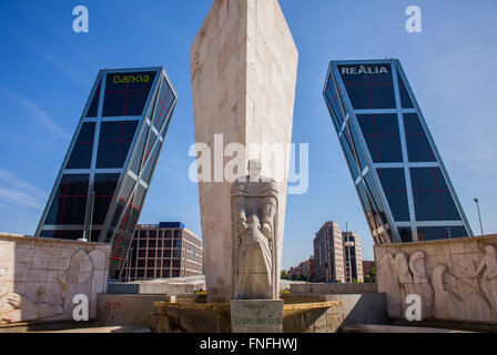
[[[326,221],[373,242],[323,97],[327,62],[398,58],[475,233],[497,231],[495,0],[280,0],[300,51],[293,141],[310,143],[310,189],[290,195],[283,267],[308,257]],[[87,6],[90,32],[72,31]],[[180,95],[141,223],[182,221],[201,234],[190,45],[212,0],[1,1],[0,231],[33,234],[98,71],[164,65]],[[423,32],[405,10],[423,11]]]

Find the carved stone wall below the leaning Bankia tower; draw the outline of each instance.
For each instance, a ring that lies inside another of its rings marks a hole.
[[[75,294],[94,318],[109,254],[106,244],[0,234],[0,327],[72,321]]]

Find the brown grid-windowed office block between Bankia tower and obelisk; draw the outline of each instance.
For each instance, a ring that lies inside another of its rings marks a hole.
[[[139,224],[120,281],[202,275],[202,241],[183,223]]]

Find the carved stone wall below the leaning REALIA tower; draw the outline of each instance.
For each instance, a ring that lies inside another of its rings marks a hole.
[[[497,323],[497,235],[374,250],[390,318],[405,318],[406,297],[417,294],[423,321]]]

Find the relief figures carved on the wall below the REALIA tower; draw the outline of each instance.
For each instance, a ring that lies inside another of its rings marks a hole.
[[[497,322],[497,248],[486,245],[483,255],[460,254],[435,263],[428,276],[424,252],[386,253],[381,261],[381,292],[387,294],[388,315],[405,316],[405,297],[422,297],[424,320]],[[407,262],[408,261],[408,262]],[[450,270],[453,268],[453,270]]]

